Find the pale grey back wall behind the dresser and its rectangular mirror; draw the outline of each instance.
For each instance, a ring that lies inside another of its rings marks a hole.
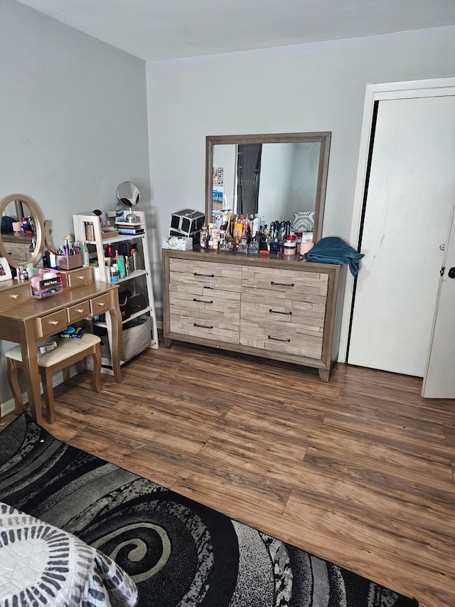
[[[146,73],[161,236],[173,211],[204,210],[206,135],[331,131],[323,233],[348,240],[365,85],[454,76],[455,27],[148,62]]]

